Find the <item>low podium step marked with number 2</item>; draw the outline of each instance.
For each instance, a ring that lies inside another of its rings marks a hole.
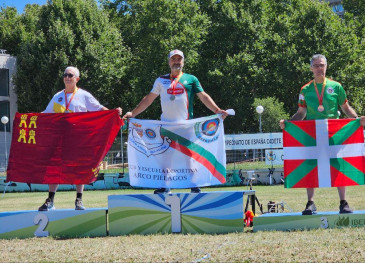
[[[0,212],[0,238],[106,236],[106,208]]]

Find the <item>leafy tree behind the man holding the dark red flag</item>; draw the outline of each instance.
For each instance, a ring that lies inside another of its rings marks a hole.
[[[29,12],[25,10],[25,17]],[[126,103],[122,94],[128,90],[130,52],[95,1],[48,1],[38,18],[34,35],[21,43],[17,57],[19,111],[44,110],[54,93],[63,89],[62,73],[68,65],[80,69],[79,85],[106,107]]]

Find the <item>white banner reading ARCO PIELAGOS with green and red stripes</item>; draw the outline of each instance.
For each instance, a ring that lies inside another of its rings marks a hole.
[[[129,120],[132,186],[191,188],[223,184],[226,155],[218,115],[178,122]]]

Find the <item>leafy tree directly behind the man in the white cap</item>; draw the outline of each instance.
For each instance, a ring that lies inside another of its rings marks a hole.
[[[150,92],[158,76],[170,71],[167,63],[169,51],[182,50],[186,57],[184,72],[195,73],[200,45],[209,25],[207,16],[195,1],[117,0],[112,3],[104,1],[104,7],[109,10],[133,53],[128,73],[133,94],[130,109]],[[153,103],[140,117],[157,119],[160,114],[159,103]]]

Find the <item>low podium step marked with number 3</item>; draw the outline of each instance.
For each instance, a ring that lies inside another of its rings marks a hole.
[[[253,231],[261,230],[301,230],[318,228],[365,227],[365,211],[352,214],[318,212],[303,216],[298,213],[267,213],[254,217]]]

